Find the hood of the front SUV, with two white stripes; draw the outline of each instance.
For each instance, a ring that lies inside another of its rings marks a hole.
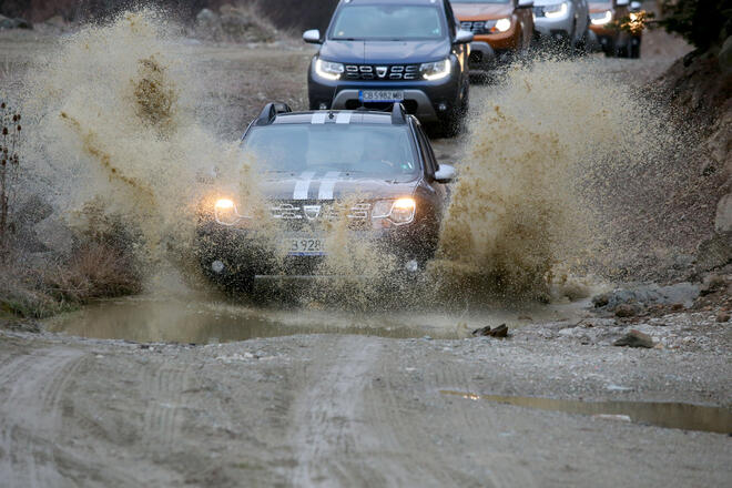
[[[343,173],[327,175],[285,175],[261,185],[264,196],[277,201],[332,201],[355,197],[358,200],[397,199],[410,196],[419,179],[414,181],[384,181],[374,177],[358,177]]]

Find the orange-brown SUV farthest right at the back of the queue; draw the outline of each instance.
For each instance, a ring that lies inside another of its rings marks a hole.
[[[634,16],[641,10],[639,1],[608,0],[590,2],[590,29],[597,37],[599,49],[607,57],[640,58],[642,28],[637,33],[620,29],[617,22]]]

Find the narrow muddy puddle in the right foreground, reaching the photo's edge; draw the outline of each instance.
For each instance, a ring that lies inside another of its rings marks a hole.
[[[540,410],[591,415],[598,418],[651,424],[683,430],[732,434],[732,409],[665,401],[580,401],[540,397],[476,395],[441,390],[443,395],[471,400],[488,400]]]

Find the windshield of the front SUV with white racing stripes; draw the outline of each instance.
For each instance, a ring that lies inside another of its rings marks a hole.
[[[399,182],[419,174],[406,125],[275,124],[253,128],[244,140],[264,171],[342,172]]]

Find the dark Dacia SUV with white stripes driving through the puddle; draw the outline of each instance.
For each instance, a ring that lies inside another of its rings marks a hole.
[[[353,238],[394,256],[398,273],[417,273],[434,255],[455,169],[437,163],[420,123],[400,104],[392,112],[292,112],[270,103],[242,149],[263,173],[264,213],[218,194],[203,204],[197,227],[203,271],[225,289],[317,277],[328,253],[325,230],[336,218]]]

